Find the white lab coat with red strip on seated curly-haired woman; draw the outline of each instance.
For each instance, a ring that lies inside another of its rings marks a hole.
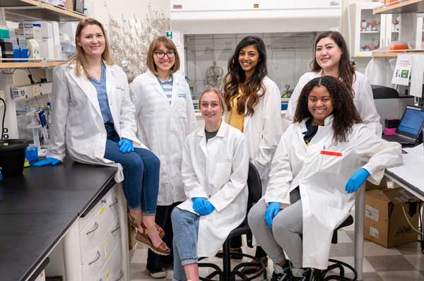
[[[306,119],[305,119],[306,120]],[[319,126],[310,146],[305,145],[305,120],[290,125],[274,155],[265,202],[290,203],[290,191],[297,186],[302,198],[303,267],[325,269],[331,237],[349,215],[355,193],[345,185],[361,167],[370,172],[368,180],[378,184],[389,166],[401,165],[399,143],[389,143],[371,133],[364,124],[355,124],[348,141],[333,140],[333,116]],[[341,156],[322,155],[322,150]]]

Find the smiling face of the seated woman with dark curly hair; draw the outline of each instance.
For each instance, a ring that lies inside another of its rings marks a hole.
[[[315,86],[307,96],[307,109],[314,117],[312,125],[324,125],[324,119],[333,113],[333,100],[324,86]]]

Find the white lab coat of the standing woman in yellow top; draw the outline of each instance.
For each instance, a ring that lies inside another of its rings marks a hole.
[[[262,83],[265,95],[260,97],[253,115],[245,114],[243,133],[247,139],[250,162],[261,176],[262,194],[264,194],[269,181],[272,157],[281,138],[282,124],[280,90],[268,76],[265,76]],[[227,112],[225,120],[228,121],[229,118],[230,112]]]

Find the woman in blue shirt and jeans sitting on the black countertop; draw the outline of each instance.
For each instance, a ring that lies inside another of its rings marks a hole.
[[[117,167],[114,179],[122,181],[130,215],[139,222],[136,239],[169,255],[155,225],[160,162],[136,137],[128,80],[113,64],[98,20],[78,23],[76,55],[54,68],[52,82],[52,147],[35,166],[59,164],[67,149],[77,162]]]

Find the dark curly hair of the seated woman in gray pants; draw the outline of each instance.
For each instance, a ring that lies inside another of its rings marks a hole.
[[[354,124],[362,123],[359,113],[353,103],[353,97],[346,85],[333,76],[322,76],[310,80],[298,99],[298,105],[293,122],[300,122],[305,118],[312,117],[307,108],[307,98],[314,87],[325,87],[329,92],[333,102],[333,131],[336,143],[343,143],[347,140]]]

